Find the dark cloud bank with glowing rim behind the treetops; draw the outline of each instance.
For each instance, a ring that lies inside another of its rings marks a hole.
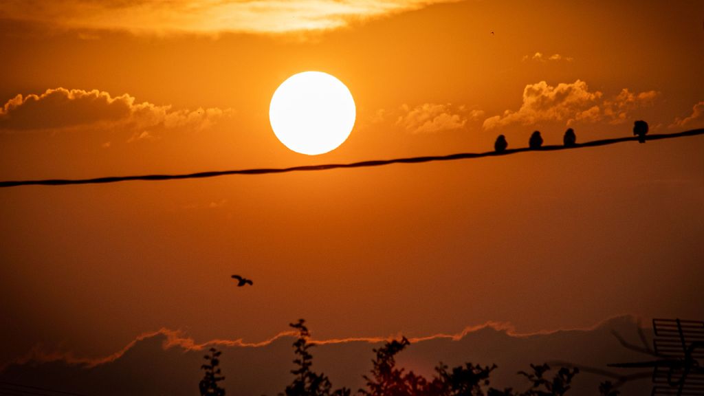
[[[649,329],[646,333],[649,333]],[[433,367],[443,361],[457,366],[496,363],[491,385],[496,388],[527,388],[519,370],[529,364],[569,361],[620,375],[634,373],[628,369],[609,369],[606,364],[647,360],[623,347],[614,337],[617,332],[628,342],[640,345],[638,323],[634,318],[612,318],[590,329],[560,330],[553,333],[515,335],[505,325],[487,324],[457,335],[435,335],[410,340],[412,344],[397,357],[398,366],[423,376],[432,375]],[[313,328],[313,333],[315,329]],[[214,340],[197,344],[191,338],[170,330],[145,334],[125,349],[103,359],[75,359],[61,354],[35,354],[19,364],[0,371],[7,383],[32,384],[42,388],[68,390],[86,395],[193,395],[203,372],[203,349],[214,346],[222,350],[220,367],[225,375],[222,384],[227,393],[237,395],[275,395],[293,376],[294,359],[291,333],[282,333],[258,344],[240,340]],[[356,390],[364,386],[362,375],[372,368],[373,348],[384,338],[315,341],[311,349],[313,369],[326,373],[335,387]],[[553,366],[555,366],[553,364]],[[552,375],[552,374],[551,374]],[[579,373],[570,394],[594,395],[598,383],[610,378],[584,371]],[[624,395],[650,392],[650,378],[627,383]]]

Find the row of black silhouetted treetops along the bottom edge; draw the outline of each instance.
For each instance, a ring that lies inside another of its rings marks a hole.
[[[294,342],[296,368],[291,370],[294,380],[279,396],[351,396],[348,388],[332,389],[332,383],[323,373],[315,373],[313,354],[310,348],[315,344],[309,342],[310,332],[303,319],[289,326],[298,331],[298,338]],[[435,375],[428,380],[423,376],[406,372],[405,369],[396,367],[396,354],[410,345],[410,341],[403,337],[401,340],[386,342],[379,349],[373,349],[375,359],[372,359],[372,370],[369,375],[363,376],[366,380],[366,389],[358,390],[360,396],[564,396],[571,388],[572,379],[579,373],[579,369],[560,367],[553,378],[548,379],[546,373],[551,370],[547,364],[531,364],[532,372],[519,371],[518,374],[530,381],[530,388],[524,392],[515,392],[511,388],[498,390],[490,387],[489,377],[496,369],[496,364],[481,366],[479,364],[465,363],[450,369],[440,363],[435,367]],[[218,386],[218,382],[225,379],[221,375],[220,354],[217,349],[210,348],[210,354],[204,357],[208,364],[203,364],[201,369],[205,375],[199,383],[201,396],[225,396],[225,389]],[[599,395],[619,396],[610,381],[599,385]]]

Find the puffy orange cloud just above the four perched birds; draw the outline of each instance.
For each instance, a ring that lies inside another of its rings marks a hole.
[[[526,85],[523,103],[517,111],[506,110],[501,116],[484,120],[484,129],[492,130],[520,123],[532,125],[541,122],[577,122],[612,124],[624,123],[629,113],[643,106],[651,106],[658,92],[634,93],[624,88],[614,97],[605,99],[600,91],[590,91],[582,80],[560,83],[557,86],[541,81]]]

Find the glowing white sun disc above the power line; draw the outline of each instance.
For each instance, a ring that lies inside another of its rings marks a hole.
[[[319,71],[289,77],[274,92],[269,121],[276,137],[289,149],[318,155],[347,140],[356,118],[349,89]]]

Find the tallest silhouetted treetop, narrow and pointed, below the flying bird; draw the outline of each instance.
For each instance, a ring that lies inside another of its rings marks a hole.
[[[286,396],[349,396],[350,390],[341,388],[332,390],[329,378],[323,373],[315,373],[310,370],[313,366],[313,355],[308,349],[315,347],[315,344],[308,342],[310,332],[305,325],[306,321],[298,319],[298,323],[290,323],[289,326],[298,330],[298,338],[294,342],[296,349],[296,369],[291,373],[296,376],[294,382],[288,385],[285,390]]]

